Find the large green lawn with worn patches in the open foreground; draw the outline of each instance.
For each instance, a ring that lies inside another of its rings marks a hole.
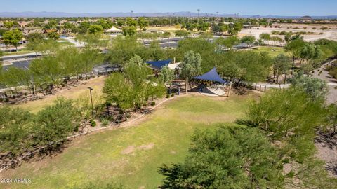
[[[65,151],[39,162],[25,162],[2,178],[30,178],[8,188],[67,188],[108,181],[125,188],[157,188],[158,167],[182,162],[194,130],[213,129],[244,118],[253,94],[229,99],[201,95],[172,99],[135,127],[105,130],[74,139]]]

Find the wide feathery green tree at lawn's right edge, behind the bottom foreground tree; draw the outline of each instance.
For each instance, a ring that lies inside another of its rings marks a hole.
[[[271,137],[312,134],[322,121],[321,102],[312,101],[299,88],[273,90],[249,107],[249,120]]]

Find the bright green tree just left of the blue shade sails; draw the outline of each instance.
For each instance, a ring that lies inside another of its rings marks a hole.
[[[149,78],[151,71],[145,62],[134,56],[126,64],[123,73],[113,73],[105,81],[103,93],[107,102],[116,103],[122,111],[140,109],[150,95],[161,97],[165,90],[157,80]],[[154,89],[161,90],[154,90]],[[157,91],[153,94],[150,91]]]

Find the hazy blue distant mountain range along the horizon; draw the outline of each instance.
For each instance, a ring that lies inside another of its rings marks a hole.
[[[198,13],[193,12],[173,12],[173,13],[63,13],[63,12],[0,12],[0,17],[7,18],[32,18],[32,17],[197,17]],[[239,18],[301,18],[302,16],[282,16],[282,15],[237,15],[237,14],[215,14],[199,13],[201,17],[239,17]],[[337,19],[337,15],[312,16],[314,19]]]

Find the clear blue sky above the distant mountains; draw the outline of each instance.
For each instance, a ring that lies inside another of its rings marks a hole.
[[[0,12],[197,12],[239,15],[337,15],[337,0],[0,0]]]

